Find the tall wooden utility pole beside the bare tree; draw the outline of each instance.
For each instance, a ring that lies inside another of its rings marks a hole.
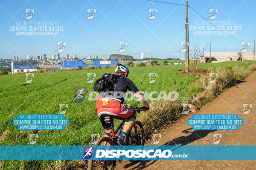
[[[186,56],[185,56],[185,69],[189,72],[189,14],[188,14],[188,1],[186,1]]]

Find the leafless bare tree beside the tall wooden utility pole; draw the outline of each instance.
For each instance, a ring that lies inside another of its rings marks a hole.
[[[193,46],[194,46],[194,50],[190,50],[191,47],[189,48],[189,56],[191,56],[191,58],[193,59],[193,61],[191,62],[192,73],[195,72],[195,69],[197,68],[198,60],[200,59],[200,56],[202,54],[204,54],[204,51],[207,49],[208,43],[207,43],[207,46],[205,48],[202,48],[202,49],[200,48],[198,43],[193,42]]]

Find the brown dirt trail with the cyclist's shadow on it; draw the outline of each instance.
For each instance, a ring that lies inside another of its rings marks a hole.
[[[243,112],[243,104],[252,104],[249,114]],[[218,145],[256,145],[256,72],[251,73],[241,83],[227,89],[217,98],[201,108],[198,114],[238,114],[243,118],[244,125],[239,130],[198,131],[187,126],[187,118],[178,120],[160,133],[162,138],[157,145],[215,145],[212,144],[213,134],[221,134]],[[148,141],[146,145],[151,145]],[[131,164],[123,161],[116,168],[118,170],[256,170],[256,161],[141,161]]]

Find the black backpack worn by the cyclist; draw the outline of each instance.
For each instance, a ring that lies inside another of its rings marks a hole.
[[[105,73],[102,78],[95,81],[93,89],[95,92],[108,92],[113,91],[113,86],[116,80],[118,80],[120,75],[113,75],[111,73]]]

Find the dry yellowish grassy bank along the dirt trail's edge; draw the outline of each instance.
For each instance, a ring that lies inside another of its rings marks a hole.
[[[196,100],[193,101],[162,101],[151,102],[150,111],[142,114],[139,120],[143,123],[143,127],[147,135],[155,130],[158,130],[165,125],[175,122],[180,118],[183,109],[182,104],[193,104],[201,107],[208,101],[218,96],[225,89],[237,84],[239,81],[246,78],[251,72],[256,70],[256,65],[250,65],[247,68],[238,66],[218,67],[217,69],[208,70],[209,73],[218,73],[218,78],[214,84],[208,84],[209,74],[202,75],[197,82],[192,83],[192,86],[201,86],[202,90],[196,95]],[[189,89],[190,90],[190,89]]]

